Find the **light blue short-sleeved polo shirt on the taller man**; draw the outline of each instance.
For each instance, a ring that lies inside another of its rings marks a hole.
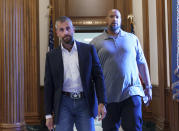
[[[113,37],[104,31],[90,43],[96,47],[103,68],[108,103],[144,96],[137,65],[146,63],[146,59],[134,34],[120,30]]]

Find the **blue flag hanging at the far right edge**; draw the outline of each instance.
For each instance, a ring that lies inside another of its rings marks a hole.
[[[179,102],[179,0],[173,0],[172,7],[172,92]]]

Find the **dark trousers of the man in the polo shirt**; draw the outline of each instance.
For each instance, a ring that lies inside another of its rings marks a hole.
[[[103,131],[142,131],[142,101],[140,96],[107,104],[107,115],[102,121]]]

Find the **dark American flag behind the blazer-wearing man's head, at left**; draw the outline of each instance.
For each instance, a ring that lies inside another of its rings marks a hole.
[[[50,16],[48,51],[52,51],[53,48],[54,48],[53,23],[52,23],[52,16]]]

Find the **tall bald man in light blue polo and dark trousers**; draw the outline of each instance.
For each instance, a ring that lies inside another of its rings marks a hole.
[[[152,100],[152,86],[145,56],[138,38],[121,28],[121,14],[112,9],[107,15],[107,30],[91,41],[96,47],[107,91],[107,115],[103,131],[142,131],[142,102]],[[141,85],[139,74],[145,84]]]

